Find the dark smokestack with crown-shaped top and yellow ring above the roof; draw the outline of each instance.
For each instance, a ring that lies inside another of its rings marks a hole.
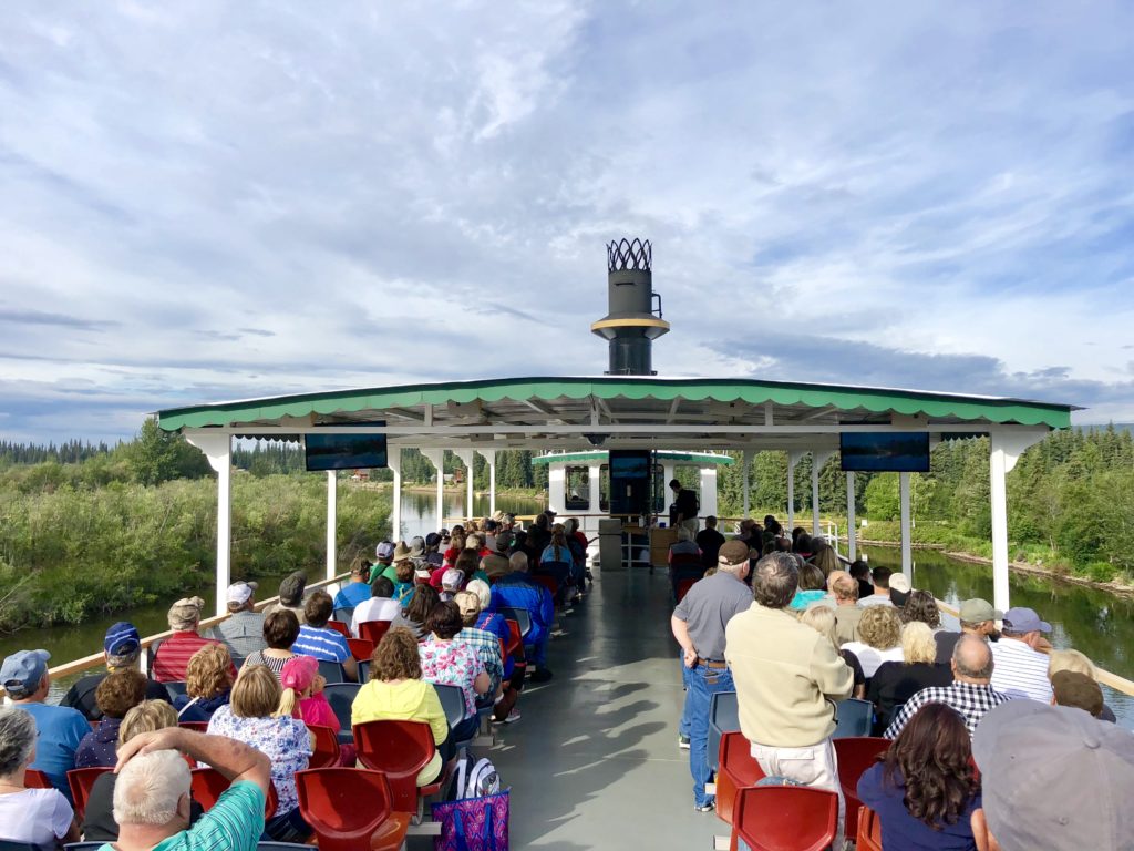
[[[661,318],[661,296],[653,292],[649,239],[619,239],[607,245],[610,312],[591,331],[610,340],[608,376],[654,376],[651,347],[669,330]],[[657,300],[657,307],[654,301]]]

